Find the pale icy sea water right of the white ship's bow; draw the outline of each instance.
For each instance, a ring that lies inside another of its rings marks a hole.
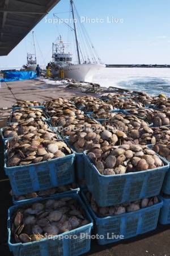
[[[101,86],[114,86],[138,90],[151,95],[170,96],[170,68],[104,68],[92,82]]]

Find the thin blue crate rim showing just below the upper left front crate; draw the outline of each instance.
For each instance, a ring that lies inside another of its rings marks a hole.
[[[79,193],[80,188],[74,188],[74,189],[70,189],[68,191],[64,191],[64,192],[58,192],[58,193],[54,193],[53,195],[49,195],[48,197],[55,197],[58,195],[67,195],[70,193]],[[24,199],[24,200],[16,200],[15,196],[12,196],[12,203],[13,204],[24,204],[24,203],[30,203],[33,201],[37,201],[37,199],[43,200],[46,196],[38,196],[38,197],[33,197],[30,199]]]

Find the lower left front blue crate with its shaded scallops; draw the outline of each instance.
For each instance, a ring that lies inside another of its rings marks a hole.
[[[37,199],[8,209],[8,246],[14,256],[76,256],[90,250],[92,226],[77,193]]]

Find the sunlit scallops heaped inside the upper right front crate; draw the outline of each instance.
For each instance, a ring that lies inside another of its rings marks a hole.
[[[102,175],[127,174],[164,166],[154,150],[137,144],[95,147],[88,150],[87,156]]]

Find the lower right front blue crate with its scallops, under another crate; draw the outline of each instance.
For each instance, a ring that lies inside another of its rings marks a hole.
[[[94,232],[99,245],[118,242],[150,232],[158,225],[162,199],[150,197],[111,207],[99,207],[90,192],[82,197],[94,219]]]

